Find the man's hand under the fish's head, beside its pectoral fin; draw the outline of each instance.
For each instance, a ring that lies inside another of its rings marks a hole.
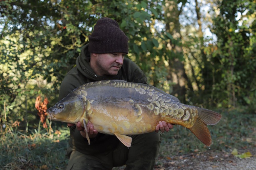
[[[84,128],[81,125],[82,125],[81,122],[77,122],[77,130],[80,131],[82,137],[86,138],[86,133],[84,131]],[[75,126],[75,124],[68,123],[67,126],[71,127],[71,126]],[[93,124],[90,121],[88,121],[87,123],[87,131],[88,131],[89,138],[94,138],[98,134],[98,131],[93,128]]]

